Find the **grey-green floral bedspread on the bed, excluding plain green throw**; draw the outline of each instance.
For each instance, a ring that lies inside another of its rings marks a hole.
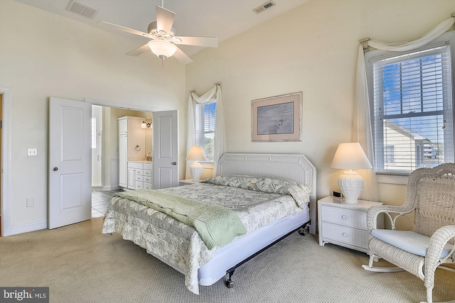
[[[239,187],[238,182],[240,185],[245,182],[253,184],[252,180],[244,177],[240,179],[234,182],[236,185],[231,182],[220,186],[213,183],[220,183],[222,180],[212,180],[212,183],[208,180],[159,191],[228,207],[238,214],[247,233],[308,207],[309,189],[306,187],[302,189],[299,199],[306,199],[304,192],[308,192],[308,200],[297,202],[291,194],[283,194],[287,192],[286,187],[292,187],[289,184],[283,184],[274,190],[279,193],[267,190],[261,192]],[[147,253],[183,271],[186,287],[195,294],[199,293],[198,268],[213,258],[219,248],[215,246],[209,250],[195,228],[122,197],[113,197],[109,203],[102,233],[119,233],[125,240],[133,241],[145,248]]]

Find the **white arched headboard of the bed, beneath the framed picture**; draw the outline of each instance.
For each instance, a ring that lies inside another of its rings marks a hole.
[[[316,167],[304,155],[225,153],[217,175],[280,177],[306,185],[311,189],[310,233],[316,233]]]

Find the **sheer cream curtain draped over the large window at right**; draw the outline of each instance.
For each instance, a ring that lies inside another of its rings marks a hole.
[[[355,106],[354,106],[354,125],[353,125],[353,141],[359,142],[362,145],[365,154],[373,166],[372,170],[363,170],[360,175],[365,180],[365,187],[360,195],[360,199],[378,201],[378,183],[376,182],[375,173],[375,153],[373,145],[373,133],[371,128],[370,116],[370,100],[368,97],[367,74],[365,70],[364,51],[367,51],[368,46],[378,50],[389,50],[395,52],[409,51],[427,45],[435,38],[445,33],[455,22],[455,18],[451,17],[433,28],[422,38],[411,42],[401,43],[383,43],[376,40],[362,40],[362,45],[358,50],[357,60],[357,75],[355,79]]]

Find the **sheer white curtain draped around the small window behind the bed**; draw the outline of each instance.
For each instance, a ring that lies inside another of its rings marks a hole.
[[[196,103],[205,103],[216,96],[216,122],[215,122],[215,151],[213,155],[213,175],[216,175],[218,160],[225,152],[225,121],[223,116],[223,98],[221,95],[221,84],[216,83],[214,87],[205,92],[202,96],[198,96],[195,92],[190,93],[188,98],[188,144],[186,145],[186,153],[196,143],[195,133],[195,116],[194,108]],[[188,167],[188,165],[187,165]]]

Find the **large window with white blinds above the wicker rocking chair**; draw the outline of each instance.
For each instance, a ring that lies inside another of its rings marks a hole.
[[[409,53],[365,55],[377,172],[407,174],[454,161],[453,50],[447,36]]]

